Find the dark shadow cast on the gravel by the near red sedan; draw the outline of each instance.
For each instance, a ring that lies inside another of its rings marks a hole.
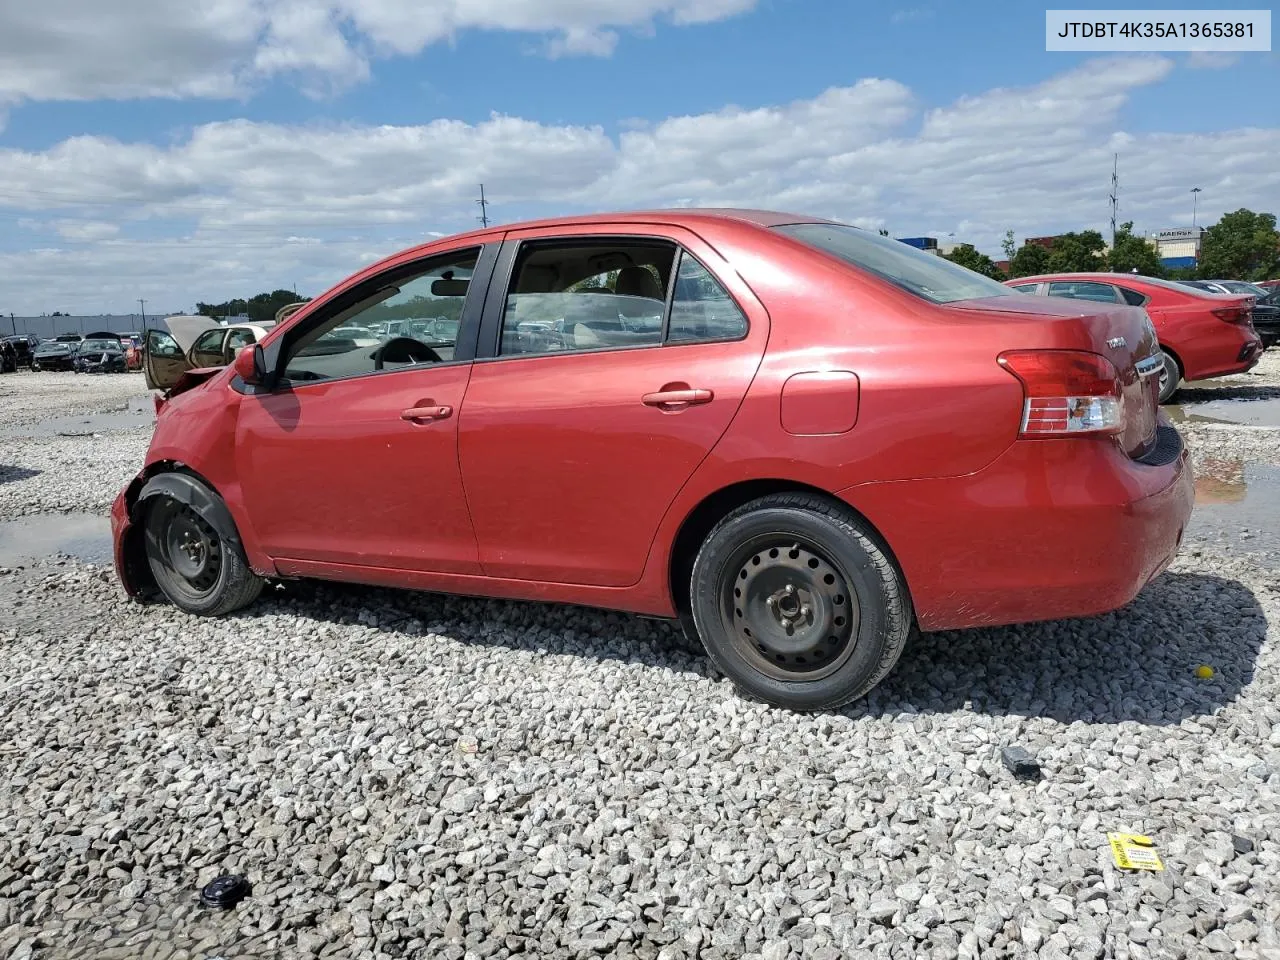
[[[678,627],[613,611],[319,581],[292,582],[275,603],[330,623],[719,677]],[[838,713],[969,710],[1064,723],[1176,724],[1239,695],[1253,677],[1266,628],[1262,607],[1239,581],[1165,573],[1128,607],[1101,617],[918,636],[878,687]],[[1199,666],[1211,666],[1215,676],[1197,677]]]

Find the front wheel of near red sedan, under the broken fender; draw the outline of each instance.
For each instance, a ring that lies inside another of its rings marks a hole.
[[[224,539],[196,509],[172,497],[151,500],[146,516],[147,563],[175,607],[220,617],[262,591],[239,545]]]

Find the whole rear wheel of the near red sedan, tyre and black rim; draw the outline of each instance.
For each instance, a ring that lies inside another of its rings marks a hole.
[[[724,517],[694,561],[694,626],[740,690],[797,710],[867,694],[911,630],[906,588],[861,522],[805,494]]]

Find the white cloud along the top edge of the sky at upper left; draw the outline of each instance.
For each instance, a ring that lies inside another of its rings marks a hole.
[[[308,92],[365,79],[468,29],[548,37],[556,55],[608,55],[616,29],[703,23],[755,0],[4,0],[0,125],[27,100],[239,97],[285,76]]]

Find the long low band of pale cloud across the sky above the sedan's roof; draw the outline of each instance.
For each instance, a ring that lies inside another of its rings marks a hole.
[[[1189,223],[1192,186],[1203,188],[1201,223],[1240,206],[1280,209],[1280,128],[1124,129],[1128,97],[1170,69],[1161,58],[1111,58],[928,111],[901,83],[865,79],[616,138],[494,115],[413,127],[229,120],[166,146],[78,137],[0,150],[0,216],[36,221],[0,237],[0,275],[6,301],[36,312],[293,283],[316,293],[379,253],[474,227],[481,182],[499,223],[751,205],[895,236],[955,233],[993,255],[1010,228],[1102,228],[1114,152],[1120,216],[1138,229]],[[128,239],[90,224],[128,224]]]

